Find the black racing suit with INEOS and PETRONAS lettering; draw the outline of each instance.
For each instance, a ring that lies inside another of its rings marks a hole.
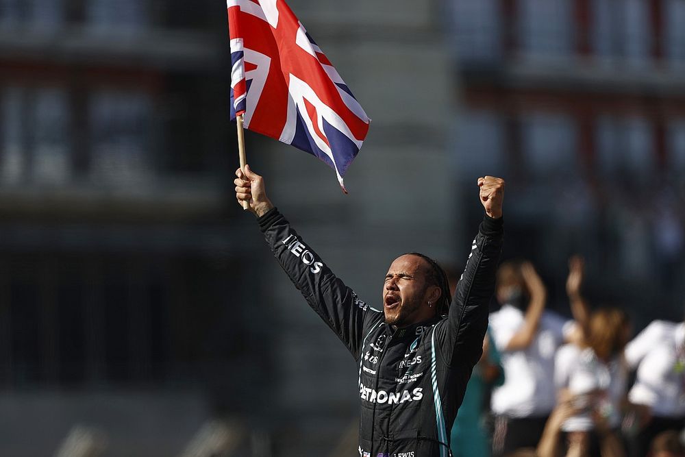
[[[482,354],[501,219],[485,217],[449,314],[393,330],[275,208],[259,218],[274,256],[359,364],[360,457],[449,455],[449,431]]]

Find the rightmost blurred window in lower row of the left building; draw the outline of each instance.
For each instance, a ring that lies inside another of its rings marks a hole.
[[[141,92],[103,91],[90,101],[90,171],[98,182],[142,184],[151,174],[149,97]]]

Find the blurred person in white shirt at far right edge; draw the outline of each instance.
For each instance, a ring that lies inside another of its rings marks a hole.
[[[625,360],[637,369],[628,393],[641,406],[634,456],[645,456],[652,439],[685,427],[685,323],[653,321],[625,348]]]

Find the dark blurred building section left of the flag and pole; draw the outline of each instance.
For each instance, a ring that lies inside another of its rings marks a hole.
[[[260,388],[226,37],[221,2],[0,1],[0,454],[177,455]]]

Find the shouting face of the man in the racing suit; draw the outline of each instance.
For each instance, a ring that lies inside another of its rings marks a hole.
[[[383,286],[386,323],[406,327],[430,319],[435,308],[427,305],[427,264],[420,257],[400,256],[390,264]]]

